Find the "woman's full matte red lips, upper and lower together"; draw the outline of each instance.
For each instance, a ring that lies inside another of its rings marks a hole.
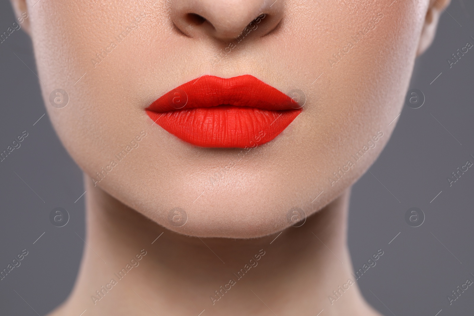
[[[301,108],[251,75],[202,76],[167,92],[148,116],[169,133],[201,147],[254,147],[271,141]]]

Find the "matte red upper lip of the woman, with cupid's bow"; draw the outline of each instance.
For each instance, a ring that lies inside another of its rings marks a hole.
[[[154,112],[169,112],[219,105],[273,111],[300,108],[283,92],[246,74],[228,79],[210,75],[201,76],[165,93],[147,109]]]

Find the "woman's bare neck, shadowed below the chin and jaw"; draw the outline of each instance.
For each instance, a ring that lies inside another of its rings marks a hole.
[[[200,239],[155,224],[89,182],[81,269],[54,315],[376,315],[357,284],[342,289],[356,281],[346,245],[349,190],[281,234]]]

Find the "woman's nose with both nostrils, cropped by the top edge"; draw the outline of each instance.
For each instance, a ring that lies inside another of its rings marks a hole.
[[[285,0],[172,0],[174,25],[190,37],[233,40],[242,32],[271,32],[283,18]]]

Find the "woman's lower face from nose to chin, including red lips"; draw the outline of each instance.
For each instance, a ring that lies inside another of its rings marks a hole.
[[[31,3],[47,112],[91,185],[176,232],[239,238],[366,171],[428,1],[270,2]]]

